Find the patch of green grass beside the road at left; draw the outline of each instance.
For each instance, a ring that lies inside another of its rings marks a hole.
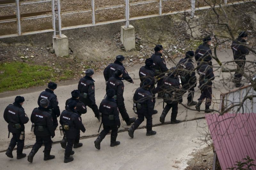
[[[22,62],[3,63],[0,65],[0,92],[45,85],[49,80],[66,80],[73,76],[71,70],[55,73],[49,66]]]

